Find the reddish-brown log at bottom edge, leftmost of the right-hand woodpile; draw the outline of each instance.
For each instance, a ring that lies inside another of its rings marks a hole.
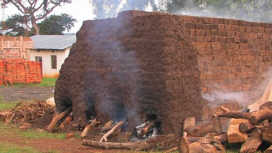
[[[180,137],[178,139],[178,150],[180,153],[188,153],[189,145],[192,142],[200,140],[201,137]]]

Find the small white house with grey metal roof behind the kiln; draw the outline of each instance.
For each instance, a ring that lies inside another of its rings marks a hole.
[[[43,78],[57,78],[59,69],[68,57],[76,35],[35,35],[34,48],[30,50],[30,60],[39,61]]]

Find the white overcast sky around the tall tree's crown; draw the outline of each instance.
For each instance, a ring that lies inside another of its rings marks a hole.
[[[13,5],[8,5],[6,8],[6,18],[13,14],[19,14],[20,12]],[[82,26],[83,21],[93,20],[95,15],[93,14],[93,7],[89,3],[89,0],[73,0],[71,4],[65,4],[61,7],[57,7],[49,15],[60,15],[61,13],[66,13],[71,15],[73,18],[77,19],[75,27],[66,33],[76,33]],[[1,14],[2,19],[2,14]]]

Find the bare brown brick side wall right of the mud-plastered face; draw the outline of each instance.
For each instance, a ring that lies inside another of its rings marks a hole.
[[[168,14],[127,11],[118,16]],[[272,62],[272,24],[233,19],[178,15],[184,22],[195,49],[199,52],[202,94],[214,92],[240,93],[239,102],[247,104],[259,99],[270,78],[267,73]],[[233,100],[216,102],[231,109],[241,109]],[[219,111],[203,102],[203,120]]]

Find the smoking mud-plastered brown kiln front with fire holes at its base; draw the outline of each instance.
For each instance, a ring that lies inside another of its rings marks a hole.
[[[92,116],[129,130],[156,120],[163,134],[181,134],[185,117],[202,114],[197,54],[178,16],[85,21],[60,69],[56,109],[72,107],[82,127]]]

